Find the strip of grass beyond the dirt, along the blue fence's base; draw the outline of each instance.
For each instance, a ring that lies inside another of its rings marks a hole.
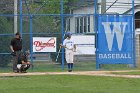
[[[62,69],[60,63],[53,62],[33,62],[34,66],[31,67],[28,72],[61,72],[67,71],[67,65],[65,64]],[[126,64],[104,64],[101,65],[100,70],[132,70],[135,68],[128,68]],[[75,62],[74,71],[96,71],[95,62]],[[12,72],[12,64],[8,67],[0,67],[1,72]]]

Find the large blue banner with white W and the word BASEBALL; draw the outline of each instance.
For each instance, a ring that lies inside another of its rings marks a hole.
[[[133,16],[99,15],[98,64],[133,63]]]

